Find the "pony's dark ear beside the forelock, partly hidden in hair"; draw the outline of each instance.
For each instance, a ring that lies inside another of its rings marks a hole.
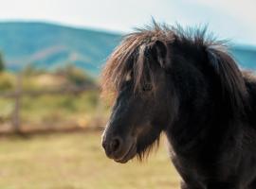
[[[170,62],[168,62],[168,49],[166,43],[158,40],[155,41],[152,45],[152,51],[155,60],[157,60],[160,66],[164,69],[168,69]]]

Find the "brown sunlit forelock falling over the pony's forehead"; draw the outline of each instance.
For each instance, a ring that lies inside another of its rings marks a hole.
[[[101,74],[103,94],[117,94],[127,74],[133,73],[134,90],[140,91],[145,77],[153,79],[150,69],[151,55],[147,53],[156,41],[172,43],[174,31],[165,25],[145,26],[124,36],[106,62]],[[147,76],[146,76],[147,75]]]

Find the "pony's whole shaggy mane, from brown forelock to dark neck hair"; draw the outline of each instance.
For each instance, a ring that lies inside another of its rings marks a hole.
[[[179,43],[183,50],[196,53],[198,57],[207,55],[210,61],[206,63],[210,64],[210,69],[220,79],[221,90],[223,95],[226,95],[225,100],[229,101],[230,109],[232,112],[243,114],[247,102],[243,77],[229,55],[226,41],[217,41],[213,34],[208,32],[207,26],[183,28],[179,25],[159,25],[154,21],[152,26],[137,28],[136,32],[124,36],[101,73],[102,94],[112,94],[115,99],[130,73],[133,73],[135,92],[142,91],[145,80],[151,82],[154,87],[155,73],[149,64],[155,59],[149,51],[156,42],[165,43],[168,48],[172,48],[174,43]]]

